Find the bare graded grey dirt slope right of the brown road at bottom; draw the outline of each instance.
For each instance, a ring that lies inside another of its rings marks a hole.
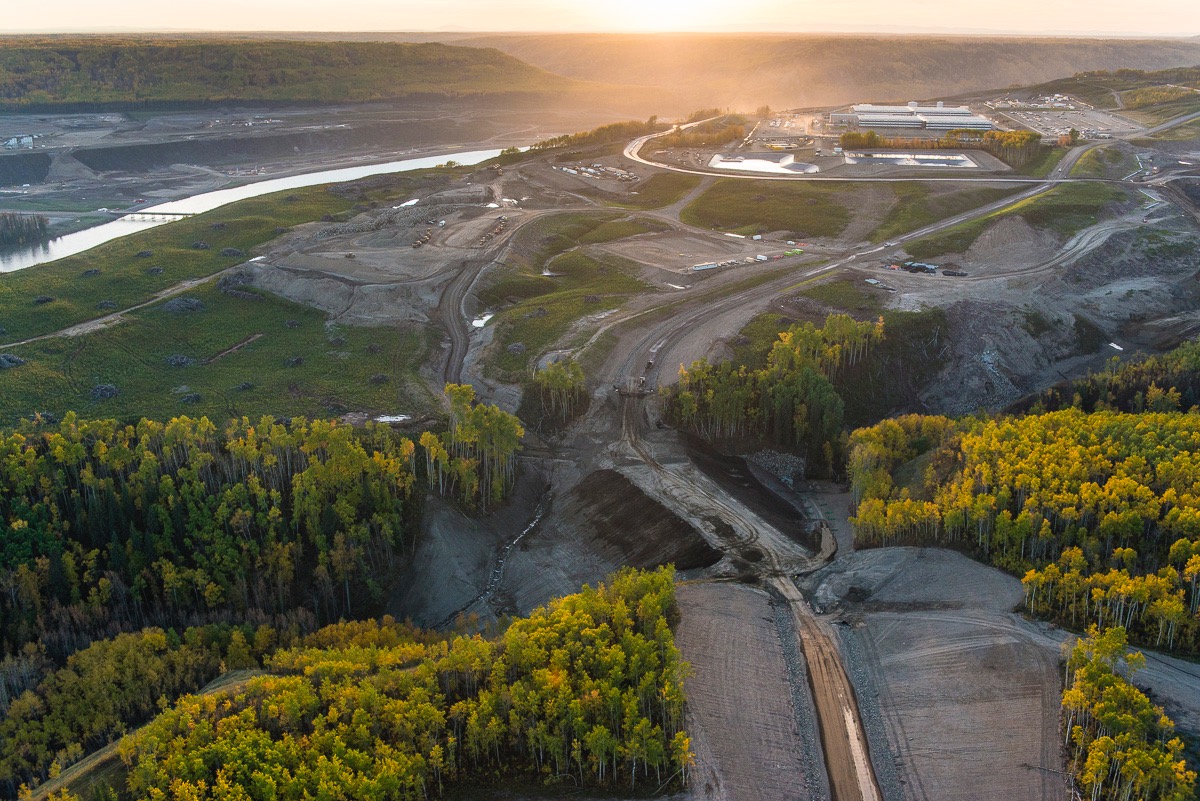
[[[960,554],[859,552],[816,596],[842,630],[886,797],[1066,799],[1057,652],[1009,610],[1020,583]]]

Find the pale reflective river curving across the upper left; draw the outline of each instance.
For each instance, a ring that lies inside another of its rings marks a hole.
[[[460,164],[478,164],[479,162],[487,161],[488,158],[494,158],[499,156],[499,150],[472,150],[464,153],[446,153],[442,156],[424,156],[421,158],[404,158],[395,162],[385,162],[383,164],[366,164],[362,167],[344,167],[342,169],[328,169],[320,170],[318,173],[305,173],[302,175],[290,175],[288,177],[276,177],[268,181],[258,181],[256,183],[246,183],[245,186],[236,186],[228,189],[217,189],[215,192],[204,192],[203,194],[193,194],[190,198],[182,198],[181,200],[170,200],[168,203],[161,203],[156,206],[148,206],[138,209],[134,212],[140,215],[199,215],[205,211],[212,211],[220,206],[227,205],[229,203],[236,203],[238,200],[246,200],[248,198],[257,198],[263,194],[270,194],[272,192],[283,192],[284,189],[299,189],[306,186],[316,186],[318,183],[337,183],[340,181],[354,181],[360,177],[367,177],[368,175],[384,175],[388,173],[404,173],[407,170],[414,169],[426,169],[430,167],[437,167],[438,164],[444,164],[446,161],[454,159]],[[0,251],[0,272],[16,272],[17,270],[24,270],[25,267],[32,267],[38,264],[44,264],[47,261],[53,261],[55,259],[61,259],[68,255],[74,255],[76,253],[83,253],[97,245],[103,245],[114,239],[121,236],[128,236],[130,234],[137,234],[138,231],[144,231],[150,228],[157,228],[158,225],[166,225],[168,219],[125,219],[118,218],[110,223],[104,223],[103,225],[96,225],[95,228],[88,228],[74,234],[67,234],[66,236],[59,236],[58,239],[49,240],[48,242],[42,242],[40,245],[30,247],[20,247],[7,251]]]

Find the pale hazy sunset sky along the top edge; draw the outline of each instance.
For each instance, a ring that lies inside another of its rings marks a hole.
[[[1195,36],[1196,0],[48,0],[0,31],[935,31]]]

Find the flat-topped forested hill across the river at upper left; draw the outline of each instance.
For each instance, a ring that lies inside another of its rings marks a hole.
[[[8,40],[0,108],[353,102],[584,89],[498,50],[378,42]]]

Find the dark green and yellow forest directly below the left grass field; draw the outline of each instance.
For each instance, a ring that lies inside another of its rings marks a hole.
[[[73,414],[0,439],[0,656],[53,660],[146,626],[353,615],[415,543],[419,476],[503,498],[523,429],[448,385],[445,434],[325,421],[217,428]]]

